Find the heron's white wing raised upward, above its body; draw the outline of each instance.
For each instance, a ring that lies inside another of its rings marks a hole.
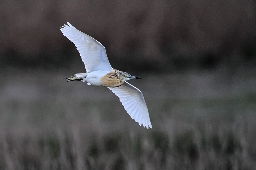
[[[68,23],[61,27],[61,32],[72,41],[79,51],[87,72],[95,70],[112,70],[105,47],[94,38],[77,30]]]

